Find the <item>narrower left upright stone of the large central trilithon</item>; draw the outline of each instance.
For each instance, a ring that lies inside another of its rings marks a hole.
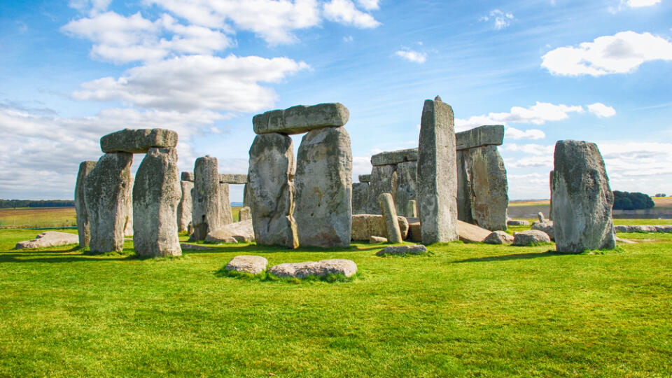
[[[257,244],[299,246],[292,216],[295,164],[290,137],[255,137],[250,148],[247,190]]]

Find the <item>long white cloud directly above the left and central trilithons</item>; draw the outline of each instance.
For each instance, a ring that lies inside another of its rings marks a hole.
[[[181,112],[258,111],[269,108],[276,99],[275,92],[260,82],[277,83],[308,67],[285,57],[189,55],[137,66],[119,78],[83,83],[83,89],[73,96]]]

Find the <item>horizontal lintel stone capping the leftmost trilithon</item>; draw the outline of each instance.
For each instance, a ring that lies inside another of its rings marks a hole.
[[[177,133],[166,129],[124,129],[100,139],[104,153],[147,153],[150,148],[174,148]]]

